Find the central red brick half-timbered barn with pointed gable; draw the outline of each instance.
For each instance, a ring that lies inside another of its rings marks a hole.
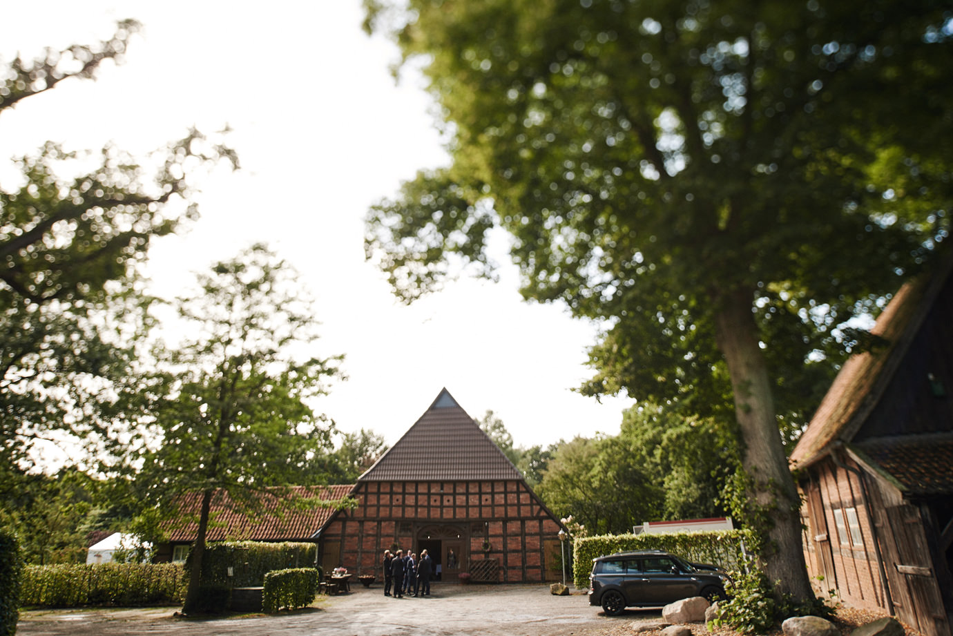
[[[443,389],[355,484],[356,507],[322,528],[325,571],[378,574],[385,549],[426,549],[442,580],[560,576],[560,524],[517,468]]]

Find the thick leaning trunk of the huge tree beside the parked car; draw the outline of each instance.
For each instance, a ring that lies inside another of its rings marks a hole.
[[[716,339],[735,395],[744,444],[741,462],[753,481],[749,497],[772,522],[764,528],[765,574],[776,585],[776,594],[812,599],[801,545],[801,501],[781,443],[767,365],[751,311],[752,295],[734,292],[720,300]]]

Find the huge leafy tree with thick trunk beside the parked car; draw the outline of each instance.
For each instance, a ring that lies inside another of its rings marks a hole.
[[[766,573],[813,597],[779,434],[799,381],[772,374],[800,373],[816,334],[876,311],[947,234],[948,10],[366,4],[368,28],[420,61],[453,157],[370,214],[368,254],[397,294],[435,289],[457,256],[492,276],[505,230],[525,297],[606,320],[589,392],[702,414],[731,396],[748,500],[773,522]]]

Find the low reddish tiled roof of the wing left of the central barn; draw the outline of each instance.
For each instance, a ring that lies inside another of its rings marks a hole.
[[[288,496],[278,498],[271,493],[262,493],[264,512],[249,516],[241,511],[228,493],[217,492],[212,499],[213,517],[209,523],[206,541],[306,541],[314,536],[334,514],[334,507],[308,506],[303,509],[283,508],[276,514],[279,502],[294,499],[319,497],[324,501],[336,501],[347,497],[354,485],[292,486]],[[184,525],[170,524],[167,528],[169,541],[194,541],[198,530],[198,512],[201,493],[186,495],[179,500],[179,518],[191,518]]]

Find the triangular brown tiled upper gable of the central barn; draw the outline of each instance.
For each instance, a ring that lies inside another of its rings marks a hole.
[[[446,389],[358,482],[522,480]]]

